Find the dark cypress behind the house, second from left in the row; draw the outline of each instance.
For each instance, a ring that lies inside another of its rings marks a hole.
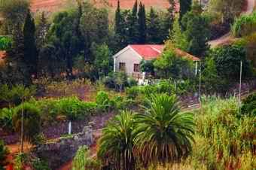
[[[132,10],[131,14],[129,14],[128,19],[127,19],[130,44],[136,44],[138,41],[137,11],[138,11],[138,2],[136,0],[136,2],[133,5],[133,10]]]

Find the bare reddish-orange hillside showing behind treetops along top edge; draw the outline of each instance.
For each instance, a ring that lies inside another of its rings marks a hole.
[[[66,2],[72,2],[73,0],[32,0],[32,11],[40,11],[40,10],[49,10],[49,11],[57,11],[66,6]],[[75,1],[75,0],[74,0]],[[117,8],[117,0],[107,0],[112,8]],[[178,0],[175,0],[178,2]],[[145,4],[146,8],[150,8],[151,6],[157,9],[163,9],[169,7],[168,0],[142,0],[142,3]],[[69,3],[68,5],[71,5]],[[134,4],[133,0],[121,0],[120,7],[121,8],[132,8]]]

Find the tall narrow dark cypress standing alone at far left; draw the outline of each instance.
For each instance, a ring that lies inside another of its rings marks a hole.
[[[30,11],[26,15],[23,27],[24,59],[30,76],[38,74],[38,50],[35,44],[35,23]]]

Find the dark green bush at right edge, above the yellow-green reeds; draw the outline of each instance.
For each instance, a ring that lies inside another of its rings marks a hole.
[[[256,116],[256,93],[253,93],[242,100],[241,113],[251,117]]]

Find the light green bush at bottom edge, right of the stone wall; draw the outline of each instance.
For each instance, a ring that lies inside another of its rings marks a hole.
[[[86,146],[79,147],[77,153],[75,153],[73,168],[86,170],[86,169],[95,169],[98,170],[101,167],[100,162],[97,159],[89,158],[89,151]]]

